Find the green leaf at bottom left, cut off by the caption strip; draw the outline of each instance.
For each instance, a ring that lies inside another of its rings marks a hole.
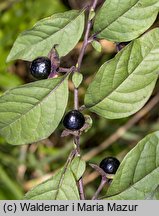
[[[73,173],[68,167],[58,171],[52,178],[29,191],[27,200],[79,200]]]

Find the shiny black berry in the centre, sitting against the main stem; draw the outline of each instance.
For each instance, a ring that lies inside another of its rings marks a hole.
[[[63,119],[63,125],[69,130],[79,130],[83,127],[84,123],[85,118],[78,110],[68,112]]]

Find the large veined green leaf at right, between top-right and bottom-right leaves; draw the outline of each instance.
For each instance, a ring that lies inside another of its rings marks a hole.
[[[158,68],[159,29],[156,28],[102,65],[88,87],[85,106],[110,119],[132,115],[149,99]]]

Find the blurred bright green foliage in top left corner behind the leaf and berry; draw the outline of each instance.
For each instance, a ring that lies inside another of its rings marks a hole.
[[[59,0],[45,0],[45,7],[43,0],[0,2],[0,87],[2,90],[23,83],[20,77],[14,73],[8,73],[8,65],[5,63],[19,32],[30,28],[43,17],[64,10],[66,9]]]

